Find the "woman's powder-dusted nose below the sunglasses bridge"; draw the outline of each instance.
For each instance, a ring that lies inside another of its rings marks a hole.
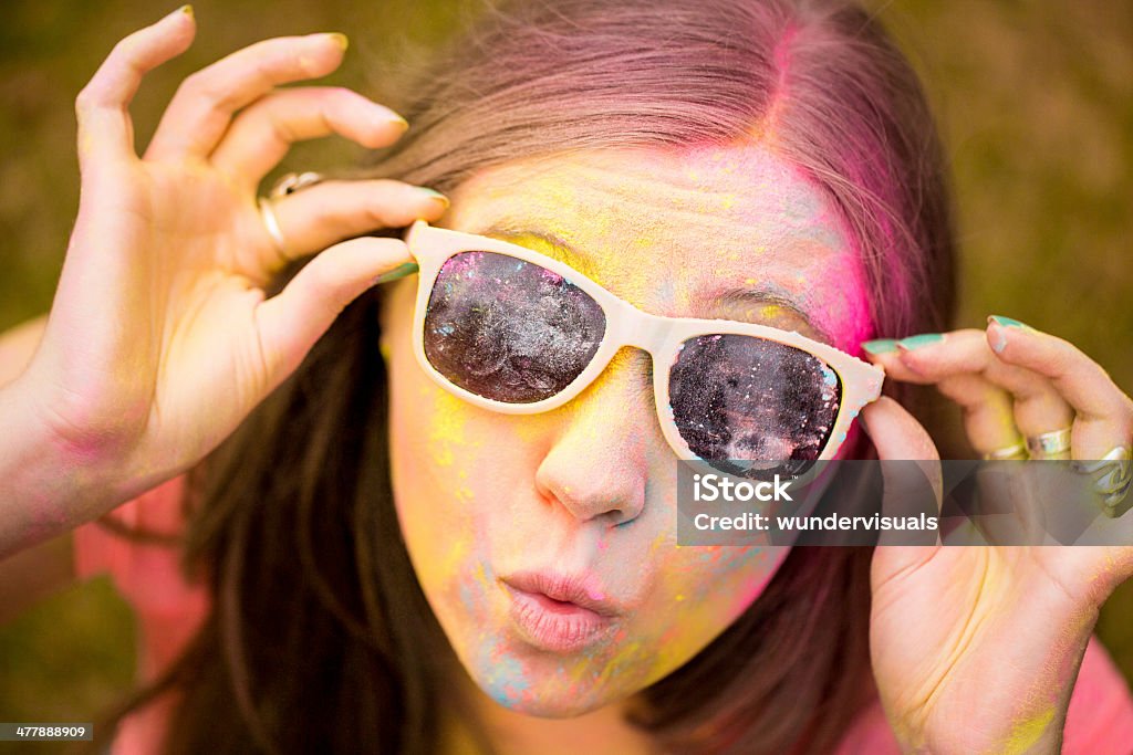
[[[665,444],[649,359],[623,348],[586,391],[555,410],[562,421],[536,471],[536,489],[579,521],[624,524],[645,507],[648,460],[656,457],[650,448]]]

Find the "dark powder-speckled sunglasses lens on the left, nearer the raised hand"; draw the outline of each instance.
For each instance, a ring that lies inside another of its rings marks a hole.
[[[606,316],[563,276],[508,255],[444,263],[425,311],[425,357],[454,385],[510,404],[560,393],[594,359]]]

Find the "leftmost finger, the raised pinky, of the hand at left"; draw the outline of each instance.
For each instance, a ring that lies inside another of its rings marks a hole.
[[[114,45],[75,100],[80,168],[100,156],[135,156],[128,108],[142,77],[185,52],[195,32],[191,8],[185,6]]]

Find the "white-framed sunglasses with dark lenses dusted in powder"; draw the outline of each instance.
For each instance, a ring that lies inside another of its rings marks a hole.
[[[419,267],[417,360],[476,406],[556,409],[637,346],[676,455],[744,474],[832,458],[881,392],[879,367],[793,331],[650,315],[546,255],[425,221],[404,239]]]

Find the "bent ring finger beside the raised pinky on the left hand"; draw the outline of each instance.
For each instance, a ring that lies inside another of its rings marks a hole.
[[[342,62],[341,34],[283,36],[257,42],[193,74],[169,103],[146,158],[193,155],[215,148],[232,113],[289,81],[326,76]]]

